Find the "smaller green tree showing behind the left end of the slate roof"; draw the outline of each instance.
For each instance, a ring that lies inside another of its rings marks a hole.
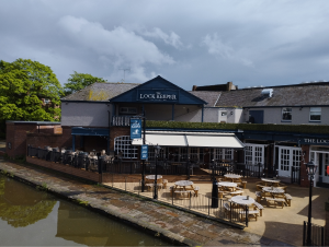
[[[86,86],[89,86],[95,82],[106,82],[102,78],[93,77],[89,73],[78,73],[75,71],[73,74],[70,74],[68,82],[64,84],[65,95],[72,94],[79,90],[83,90]]]

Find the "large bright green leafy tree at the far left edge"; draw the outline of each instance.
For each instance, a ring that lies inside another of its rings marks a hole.
[[[61,95],[63,87],[49,67],[21,58],[0,61],[0,121],[59,120]]]

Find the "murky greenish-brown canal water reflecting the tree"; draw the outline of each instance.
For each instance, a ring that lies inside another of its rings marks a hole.
[[[0,175],[1,247],[169,247],[157,237]]]

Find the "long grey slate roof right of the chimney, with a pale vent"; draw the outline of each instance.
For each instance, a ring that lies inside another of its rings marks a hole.
[[[272,97],[262,95],[264,89],[273,89]],[[329,105],[329,82],[266,86],[222,92],[216,104],[219,106],[273,107]]]

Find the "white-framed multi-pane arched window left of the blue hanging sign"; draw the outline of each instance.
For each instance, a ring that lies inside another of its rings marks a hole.
[[[138,149],[132,145],[129,136],[122,136],[114,139],[114,151],[122,152],[123,158],[137,158]]]

